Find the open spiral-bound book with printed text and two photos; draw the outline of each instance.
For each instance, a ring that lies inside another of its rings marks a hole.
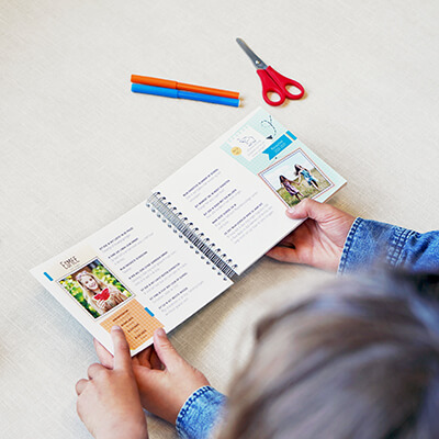
[[[32,274],[109,351],[132,354],[227,290],[301,224],[285,209],[346,181],[262,109],[195,156],[145,202]]]

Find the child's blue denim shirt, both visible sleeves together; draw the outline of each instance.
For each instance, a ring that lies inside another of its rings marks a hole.
[[[368,270],[384,262],[408,271],[439,271],[439,230],[420,234],[391,224],[357,218],[346,238],[339,274]],[[184,439],[205,439],[224,415],[227,398],[211,386],[195,391],[177,418]]]

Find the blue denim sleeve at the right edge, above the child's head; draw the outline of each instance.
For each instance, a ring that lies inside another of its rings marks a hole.
[[[357,218],[346,238],[338,266],[345,274],[385,263],[412,272],[439,271],[439,230],[415,230]]]

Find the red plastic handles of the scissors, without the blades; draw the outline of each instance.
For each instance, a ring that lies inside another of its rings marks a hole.
[[[301,99],[304,93],[305,89],[302,87],[301,83],[294,81],[293,79],[286,78],[275,71],[271,66],[268,66],[266,69],[258,69],[257,70],[259,78],[262,82],[262,98],[263,100],[272,106],[281,105],[285,102],[285,99]],[[286,87],[293,86],[300,90],[300,93],[292,94],[288,91]],[[279,101],[272,101],[269,99],[268,93],[277,93],[280,97]]]

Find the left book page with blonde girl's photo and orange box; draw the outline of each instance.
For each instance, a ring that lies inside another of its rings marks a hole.
[[[109,351],[110,329],[121,326],[132,354],[232,284],[145,203],[32,274]]]

